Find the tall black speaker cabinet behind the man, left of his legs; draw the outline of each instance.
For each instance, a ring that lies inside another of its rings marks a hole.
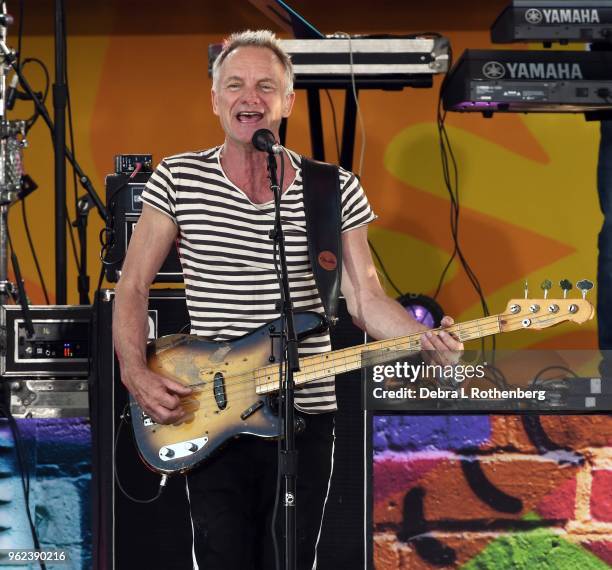
[[[137,499],[155,496],[160,481],[160,476],[140,461],[131,426],[121,425],[127,391],[121,383],[112,342],[114,296],[113,290],[101,291],[93,318],[94,568],[185,570],[192,567],[192,562],[184,478],[170,477],[161,497],[149,504],[130,501],[114,481],[113,465],[121,486]],[[150,337],[189,332],[184,290],[151,291],[149,328]]]

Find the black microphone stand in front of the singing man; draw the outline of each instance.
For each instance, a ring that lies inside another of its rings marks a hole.
[[[274,229],[270,237],[278,247],[281,267],[281,323],[280,338],[281,358],[280,367],[284,371],[284,378],[280,390],[281,424],[283,426],[283,439],[281,440],[281,453],[279,460],[279,473],[283,478],[283,512],[284,512],[284,538],[285,538],[285,570],[295,570],[296,566],[296,479],[297,456],[295,448],[295,408],[293,373],[299,371],[299,357],[297,336],[293,320],[293,304],[289,290],[289,274],[287,272],[287,256],[285,253],[285,236],[281,223],[280,202],[282,189],[278,184],[276,175],[276,155],[268,151],[268,174],[270,175],[270,189],[274,194]],[[284,157],[281,157],[283,160]],[[286,354],[285,368],[283,370],[283,357]]]

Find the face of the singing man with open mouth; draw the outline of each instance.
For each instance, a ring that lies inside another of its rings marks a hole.
[[[213,112],[226,136],[250,144],[257,129],[278,133],[288,117],[295,94],[285,94],[285,69],[268,48],[244,46],[230,53],[212,90]]]

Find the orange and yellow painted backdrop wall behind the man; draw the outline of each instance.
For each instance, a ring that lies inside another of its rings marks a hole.
[[[492,22],[499,8],[499,3],[478,2],[468,2],[462,10],[454,4],[437,12],[421,7],[418,17],[412,18],[410,3],[387,2],[383,4],[389,5],[386,8],[393,18],[385,19],[379,10],[368,19],[369,3],[352,4],[352,13],[346,18],[345,2],[338,2],[337,10],[326,13],[316,12],[320,2],[295,4],[313,21],[322,22],[319,25],[327,32],[339,28],[376,32],[383,23],[384,31],[392,31],[391,22],[396,31],[406,32],[417,28],[402,27],[398,22],[429,26],[433,20],[439,22],[436,29],[450,38],[455,54],[468,46],[490,46],[481,24],[483,19]],[[47,2],[40,2],[40,6],[44,9],[26,14],[23,53],[40,57],[52,70],[52,10]],[[173,6],[170,15],[161,2],[147,3],[146,11],[133,2],[94,2],[92,6],[93,15],[78,3],[68,3],[68,30],[72,30],[68,39],[69,80],[77,158],[103,196],[104,176],[111,172],[116,153],[151,152],[159,160],[222,140],[210,112],[207,46],[232,31],[234,20],[235,29],[240,29],[262,25],[265,19],[247,2],[231,2],[222,11],[212,2],[184,1]],[[480,8],[486,8],[486,15]],[[369,28],[369,21],[379,26]],[[11,43],[16,44],[14,36]],[[38,70],[32,67],[28,73],[35,86],[41,85]],[[452,251],[449,201],[434,122],[438,87],[436,80],[433,89],[373,91],[361,96],[367,137],[363,183],[380,216],[371,238],[392,278],[406,291],[431,293]],[[341,116],[342,94],[333,92],[332,96]],[[322,105],[326,149],[333,161],[333,129],[325,97]],[[23,118],[29,113],[29,104],[20,102],[9,117]],[[484,119],[449,114],[448,130],[460,169],[463,249],[492,311],[500,312],[509,298],[522,296],[525,279],[537,292],[546,277],[554,281],[593,279],[601,223],[595,186],[597,125],[574,115]],[[355,164],[360,137],[358,133]],[[25,163],[40,188],[28,198],[28,212],[43,271],[53,289],[53,155],[42,121],[33,129],[29,142]],[[303,93],[298,93],[289,124],[288,146],[310,152]],[[13,210],[11,231],[28,293],[34,302],[41,302],[20,213]],[[100,268],[101,227],[92,212],[88,249],[92,286]],[[69,301],[76,302],[71,256],[68,275]],[[476,294],[456,263],[440,301],[459,319],[480,314]],[[537,335],[517,333],[500,344],[524,347],[550,340],[558,346],[594,347],[595,324],[579,329],[565,326]]]

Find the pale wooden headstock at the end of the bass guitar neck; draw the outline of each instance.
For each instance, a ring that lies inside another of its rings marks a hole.
[[[512,299],[500,317],[503,332],[519,329],[545,329],[571,321],[582,324],[595,310],[586,299]]]

